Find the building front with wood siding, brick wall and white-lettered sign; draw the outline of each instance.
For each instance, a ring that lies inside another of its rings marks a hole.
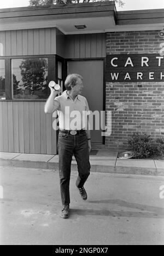
[[[93,147],[163,136],[163,26],[163,9],[116,12],[114,1],[1,9],[0,151],[57,153],[56,116],[44,104],[49,81],[65,90],[68,73],[83,76],[90,109],[112,128],[94,128]]]

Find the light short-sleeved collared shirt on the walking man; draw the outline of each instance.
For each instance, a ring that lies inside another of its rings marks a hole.
[[[89,115],[90,110],[84,96],[78,94],[73,100],[69,97],[67,90],[65,90],[54,101],[60,103],[57,109],[60,129],[87,129],[87,115]]]

